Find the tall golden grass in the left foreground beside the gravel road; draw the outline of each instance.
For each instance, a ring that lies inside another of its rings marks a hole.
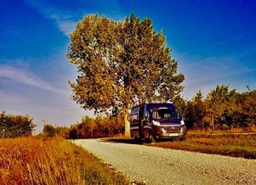
[[[128,184],[125,177],[60,137],[0,139],[1,184]]]

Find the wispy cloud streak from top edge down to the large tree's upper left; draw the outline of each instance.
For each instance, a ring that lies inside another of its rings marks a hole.
[[[32,8],[35,8],[39,14],[42,14],[48,20],[54,21],[54,24],[58,26],[65,36],[69,36],[69,34],[74,31],[76,22],[71,20],[71,13],[63,10],[60,11],[60,9],[54,8],[52,4],[46,1],[26,0],[26,3]]]

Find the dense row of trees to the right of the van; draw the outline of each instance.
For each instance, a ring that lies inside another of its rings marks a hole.
[[[217,85],[203,98],[196,93],[191,100],[176,97],[174,104],[192,129],[230,129],[256,126],[256,90],[236,92],[226,85]]]

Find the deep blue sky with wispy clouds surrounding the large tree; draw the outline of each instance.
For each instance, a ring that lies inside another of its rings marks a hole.
[[[37,132],[92,116],[69,99],[77,70],[65,59],[68,34],[86,14],[122,21],[131,12],[163,29],[185,98],[217,84],[256,88],[256,1],[1,0],[0,111],[31,115]]]

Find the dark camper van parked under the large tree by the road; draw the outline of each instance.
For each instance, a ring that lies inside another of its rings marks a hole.
[[[166,138],[185,138],[185,123],[174,104],[140,104],[131,110],[128,121],[134,140],[149,139],[153,143]]]

